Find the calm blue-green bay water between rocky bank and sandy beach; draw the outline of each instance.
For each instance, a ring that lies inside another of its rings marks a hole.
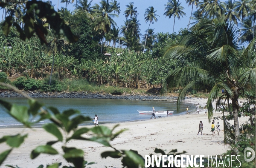
[[[1,98],[18,105],[26,105],[27,100],[20,97]],[[167,101],[142,101],[142,100],[124,100],[124,99],[69,99],[69,98],[36,98],[39,102],[47,106],[54,106],[59,111],[70,108],[77,109],[84,116],[94,118],[95,114],[99,117],[99,124],[128,122],[134,120],[150,119],[151,115],[139,114],[140,111],[151,111],[154,106],[156,111],[174,111],[173,115],[185,114],[186,106],[192,107],[191,104],[180,105],[180,111],[177,113],[176,102]],[[190,108],[192,109],[192,108]],[[172,116],[173,116],[172,115]],[[167,116],[166,116],[167,117]],[[49,121],[40,122],[34,127],[41,127],[42,124]],[[82,125],[91,125],[93,122],[84,122]],[[0,128],[20,127],[22,124],[6,113],[5,109],[0,106]]]

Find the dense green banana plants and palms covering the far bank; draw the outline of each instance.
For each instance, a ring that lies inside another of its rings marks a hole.
[[[247,44],[253,39],[253,1],[187,3],[192,5],[192,9],[193,6],[198,7],[191,16],[195,22],[190,23],[188,28],[201,19],[224,18],[235,24],[235,27],[238,26],[236,31],[239,37],[236,38],[239,43]],[[13,22],[25,28],[21,18],[26,13],[22,6],[23,2],[8,2],[8,6],[3,8],[3,14],[12,16]],[[5,72],[8,77],[22,75],[47,81],[48,84],[48,76],[52,72],[57,83],[67,78],[85,78],[97,85],[140,88],[143,84],[143,87],[148,88],[153,85],[162,86],[166,75],[181,65],[176,60],[163,62],[160,57],[164,48],[179,43],[188,30],[180,30],[178,34],[155,33],[154,29],[150,29],[150,24],[157,24],[160,11],[154,10],[154,7],[145,10],[144,17],[149,28],[142,34],[134,3],[126,5],[127,9],[123,11],[126,20],[120,27],[116,25],[115,17],[122,13],[115,0],[102,0],[95,5],[89,0],[78,0],[74,6],[76,10],[61,8],[58,14],[79,37],[76,43],[69,43],[63,37],[55,36],[55,30],[45,20],[41,24],[49,30],[45,39],[48,43],[43,46],[40,44],[41,40],[35,37],[23,42],[19,38],[20,32],[15,28],[11,28],[8,36],[4,35],[5,31],[1,31],[0,71]],[[163,13],[169,18],[181,19],[185,15],[179,1],[169,0],[165,6]],[[211,6],[214,6],[214,12]],[[106,52],[111,55],[104,55]]]

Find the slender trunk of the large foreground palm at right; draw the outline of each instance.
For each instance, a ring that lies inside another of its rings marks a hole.
[[[233,108],[233,116],[234,116],[234,128],[235,128],[235,144],[239,141],[239,121],[238,121],[238,90],[234,91],[234,96],[231,98],[232,100],[232,108]]]

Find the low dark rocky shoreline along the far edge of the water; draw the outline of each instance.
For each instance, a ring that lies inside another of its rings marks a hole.
[[[29,97],[54,97],[54,98],[94,98],[94,99],[128,99],[128,100],[177,100],[175,96],[161,96],[161,95],[141,95],[141,94],[122,94],[112,95],[107,93],[89,93],[87,91],[81,92],[28,92]],[[23,97],[23,95],[16,93],[15,91],[0,91],[0,97]],[[186,97],[188,99],[189,97]]]

